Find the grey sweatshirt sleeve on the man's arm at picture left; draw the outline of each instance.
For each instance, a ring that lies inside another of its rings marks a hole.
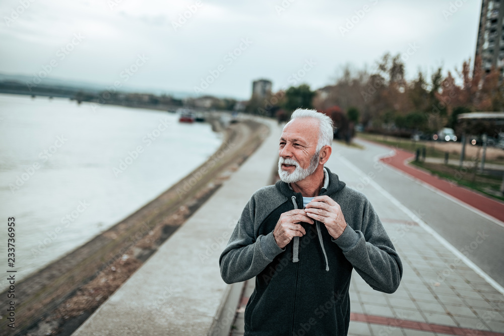
[[[219,258],[221,276],[227,284],[254,278],[285,251],[276,243],[273,232],[255,237],[254,219],[255,201],[252,196]]]

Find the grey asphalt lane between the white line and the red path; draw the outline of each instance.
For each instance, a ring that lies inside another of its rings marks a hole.
[[[331,156],[334,155],[336,160],[330,161],[332,164],[329,165],[333,172],[338,174],[338,157],[347,159],[504,286],[504,227],[408,179],[387,165],[377,164],[377,157],[391,153],[391,149],[358,139],[356,142],[365,149],[333,143]]]

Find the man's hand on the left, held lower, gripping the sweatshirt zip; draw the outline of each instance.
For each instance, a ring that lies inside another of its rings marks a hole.
[[[280,215],[273,230],[273,237],[278,247],[284,248],[295,236],[302,237],[306,234],[303,226],[298,224],[299,222],[314,223],[302,209],[290,210]]]

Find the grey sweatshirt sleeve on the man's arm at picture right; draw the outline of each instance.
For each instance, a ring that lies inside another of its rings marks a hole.
[[[394,293],[399,287],[403,266],[380,218],[366,199],[361,230],[347,225],[341,236],[332,239],[346,259],[373,289]]]

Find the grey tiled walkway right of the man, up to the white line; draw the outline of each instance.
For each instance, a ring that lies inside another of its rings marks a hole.
[[[327,166],[369,198],[404,265],[394,294],[374,291],[353,272],[349,334],[504,335],[504,289],[495,282],[492,286],[480,270],[469,267],[471,262],[415,212],[341,155],[342,148],[333,144]],[[482,240],[476,236],[474,244]],[[254,279],[246,283],[232,335],[243,334],[244,307],[253,289]]]

